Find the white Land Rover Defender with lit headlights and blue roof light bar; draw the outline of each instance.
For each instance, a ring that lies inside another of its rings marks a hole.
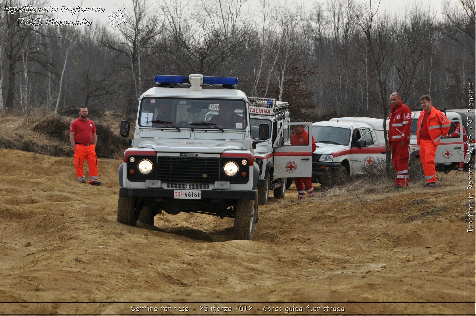
[[[233,217],[234,238],[251,240],[259,167],[238,78],[158,75],[155,82],[139,98],[132,148],[119,167],[118,222],[154,225],[162,211]],[[205,120],[211,104],[225,103],[240,119]],[[129,121],[121,122],[121,136],[129,136]]]

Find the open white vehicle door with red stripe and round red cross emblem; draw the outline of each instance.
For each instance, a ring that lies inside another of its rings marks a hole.
[[[274,142],[275,178],[311,177],[312,173],[312,134],[308,133],[307,145],[291,145],[294,134],[293,125],[308,125],[310,122],[285,122],[278,130]],[[304,142],[303,142],[304,143]]]

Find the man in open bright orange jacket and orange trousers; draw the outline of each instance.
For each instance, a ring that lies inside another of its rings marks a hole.
[[[420,97],[423,111],[418,117],[417,143],[420,146],[420,160],[425,173],[423,187],[436,187],[435,155],[441,137],[448,134],[451,123],[440,110],[431,105],[431,98],[425,94]]]

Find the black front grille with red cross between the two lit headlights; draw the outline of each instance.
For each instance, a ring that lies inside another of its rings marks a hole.
[[[157,179],[165,182],[213,183],[219,172],[220,158],[157,158]]]

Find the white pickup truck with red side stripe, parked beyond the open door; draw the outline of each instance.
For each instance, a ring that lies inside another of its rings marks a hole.
[[[312,124],[317,149],[312,157],[314,182],[324,186],[343,182],[348,175],[385,161],[383,119],[335,118]]]

